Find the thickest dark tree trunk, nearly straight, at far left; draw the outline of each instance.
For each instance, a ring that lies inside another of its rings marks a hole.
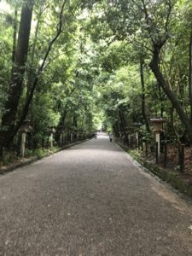
[[[9,96],[5,104],[5,113],[2,118],[3,131],[0,132],[0,144],[7,147],[10,137],[15,129],[15,119],[20,96],[23,90],[23,77],[26,70],[26,58],[28,53],[29,37],[32,22],[33,0],[25,0],[20,15],[20,28],[15,50],[15,62],[13,64]]]

